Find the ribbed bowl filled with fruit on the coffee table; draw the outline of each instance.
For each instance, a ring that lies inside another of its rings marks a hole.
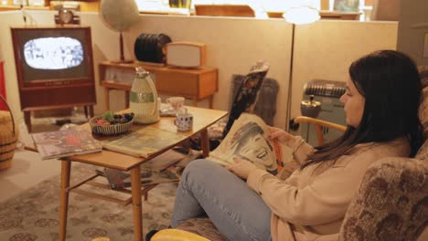
[[[97,135],[119,135],[133,126],[134,113],[115,114],[107,111],[101,116],[91,118],[92,133]]]

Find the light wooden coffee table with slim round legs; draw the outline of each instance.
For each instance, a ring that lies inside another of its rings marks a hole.
[[[216,121],[219,121],[224,117],[227,112],[223,110],[209,110],[196,107],[187,107],[188,111],[193,114],[193,130],[180,132],[181,134],[187,135],[187,141],[190,137],[200,133],[201,136],[201,147],[204,156],[209,154],[209,137],[207,128]],[[166,131],[177,132],[177,127],[174,125],[174,117],[162,117],[160,121],[150,126],[159,128]],[[85,124],[87,128],[89,124]],[[109,167],[121,171],[131,171],[131,198],[133,204],[134,214],[134,240],[143,240],[143,218],[142,218],[142,201],[141,196],[148,190],[142,190],[140,180],[140,166],[142,163],[149,161],[155,156],[172,149],[179,141],[172,146],[166,147],[164,150],[156,152],[149,158],[134,157],[119,152],[112,152],[102,150],[102,152],[77,155],[68,158],[61,159],[61,184],[60,184],[60,197],[59,197],[59,240],[65,240],[66,227],[67,227],[67,213],[69,205],[69,194],[70,190],[80,186],[83,183],[87,183],[95,176],[88,178],[80,183],[70,186],[70,167],[71,162],[84,162],[101,167]],[[149,187],[151,189],[153,187]],[[96,196],[96,195],[94,195]],[[131,201],[130,201],[131,202]]]

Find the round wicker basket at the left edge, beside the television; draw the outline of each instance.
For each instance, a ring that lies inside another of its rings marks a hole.
[[[15,125],[12,111],[5,98],[0,95],[0,100],[5,103],[9,111],[0,110],[0,170],[5,170],[12,165],[15,154],[18,130]]]

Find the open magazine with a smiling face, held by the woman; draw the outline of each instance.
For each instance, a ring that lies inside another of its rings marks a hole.
[[[238,157],[276,174],[281,171],[284,161],[290,159],[293,151],[280,141],[270,140],[269,134],[268,126],[260,117],[242,113],[207,159],[228,165],[233,162],[234,157]]]

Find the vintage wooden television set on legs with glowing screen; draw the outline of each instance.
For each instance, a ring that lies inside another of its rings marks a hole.
[[[89,26],[11,27],[21,109],[28,130],[34,110],[96,103]]]

